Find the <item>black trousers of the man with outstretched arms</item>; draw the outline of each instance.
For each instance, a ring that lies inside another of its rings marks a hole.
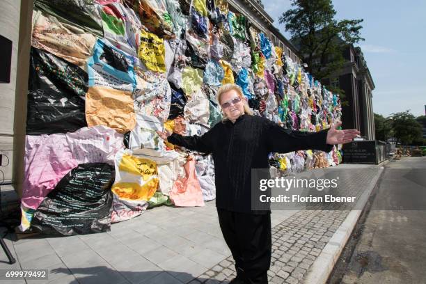
[[[237,277],[267,284],[271,265],[271,214],[249,214],[217,208],[223,238],[235,260]]]

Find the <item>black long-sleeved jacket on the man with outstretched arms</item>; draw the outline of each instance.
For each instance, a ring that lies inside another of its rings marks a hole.
[[[299,132],[284,129],[260,116],[240,116],[235,123],[217,123],[202,136],[172,134],[168,142],[189,150],[212,153],[216,183],[216,207],[252,214],[251,169],[269,168],[269,152],[296,150],[331,151],[327,130]]]

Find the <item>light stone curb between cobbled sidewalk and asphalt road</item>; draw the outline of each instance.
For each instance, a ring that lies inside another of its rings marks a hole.
[[[384,166],[386,164],[388,164],[386,161],[379,164],[379,174],[372,179],[370,187],[363,192],[358,200],[358,204],[361,205],[360,207],[365,207],[365,204],[367,203],[368,198],[370,198],[372,190],[381,177],[381,173],[383,173]],[[358,205],[356,206],[358,207]],[[304,284],[326,283],[362,212],[363,210],[352,210],[349,212],[346,219],[334,233],[333,237],[331,237],[329,242],[322,249],[321,253],[319,253],[315,262],[313,262],[310,266],[308,274],[306,274],[306,278],[303,279]]]

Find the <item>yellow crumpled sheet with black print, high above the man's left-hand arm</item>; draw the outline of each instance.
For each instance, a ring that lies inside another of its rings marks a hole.
[[[166,72],[166,48],[164,40],[154,33],[141,30],[139,58],[146,68],[155,72]]]

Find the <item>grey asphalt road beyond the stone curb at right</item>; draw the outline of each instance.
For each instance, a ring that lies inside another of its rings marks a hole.
[[[390,161],[376,192],[352,256],[345,248],[349,263],[340,259],[329,283],[426,283],[426,157]]]

